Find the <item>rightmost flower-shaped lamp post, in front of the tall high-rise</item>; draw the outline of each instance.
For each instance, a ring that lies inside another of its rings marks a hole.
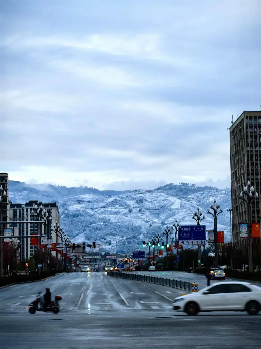
[[[250,181],[244,187],[243,192],[240,192],[239,199],[247,204],[247,237],[248,237],[248,272],[253,272],[253,238],[252,238],[252,203],[258,199],[258,193],[254,195],[254,187],[250,186]]]

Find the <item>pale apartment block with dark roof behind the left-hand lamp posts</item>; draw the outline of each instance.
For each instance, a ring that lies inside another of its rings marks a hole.
[[[19,236],[28,236],[28,235],[41,235],[44,233],[44,225],[35,222],[35,216],[32,214],[33,204],[42,205],[49,215],[52,218],[52,221],[48,221],[46,226],[47,238],[53,238],[53,243],[56,242],[56,235],[52,231],[55,222],[60,225],[60,213],[56,202],[43,203],[37,200],[29,200],[25,204],[21,203],[12,203],[10,205],[10,221],[28,221],[28,223],[23,224],[9,224],[10,227],[17,227]],[[58,239],[58,243],[60,240]],[[20,239],[20,259],[26,260],[33,257],[34,252],[37,250],[37,246],[30,244],[30,238],[21,238]],[[55,256],[56,252],[52,252]]]

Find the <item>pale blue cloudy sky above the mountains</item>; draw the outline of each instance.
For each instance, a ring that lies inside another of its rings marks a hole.
[[[1,1],[0,171],[26,183],[230,186],[260,110],[261,1]]]

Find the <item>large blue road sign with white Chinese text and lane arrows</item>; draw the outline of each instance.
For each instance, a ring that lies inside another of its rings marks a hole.
[[[180,245],[206,245],[205,225],[180,225],[179,226]]]

